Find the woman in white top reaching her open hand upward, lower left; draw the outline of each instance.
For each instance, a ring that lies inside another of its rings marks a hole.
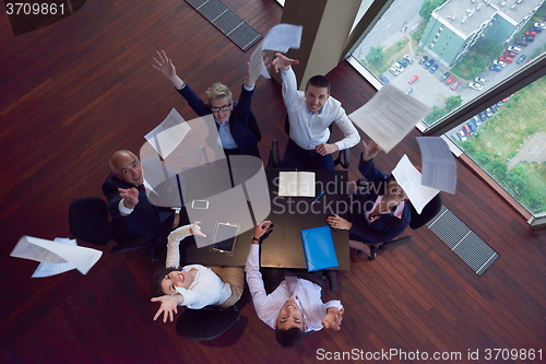
[[[205,236],[200,222],[174,230],[167,243],[166,268],[158,271],[152,282],[152,302],[161,303],[154,316],[163,314],[163,321],[173,321],[178,306],[200,309],[215,305],[233,306],[239,301],[245,286],[245,270],[238,267],[204,267],[180,265],[180,240],[190,235]]]

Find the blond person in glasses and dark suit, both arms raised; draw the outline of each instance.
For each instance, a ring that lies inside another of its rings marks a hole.
[[[229,89],[215,82],[206,91],[209,104],[203,101],[183,82],[176,73],[173,61],[167,58],[165,50],[157,52],[158,59],[154,58],[154,69],[162,72],[176,87],[176,90],[188,101],[190,107],[199,116],[212,114],[216,121],[219,139],[226,155],[245,154],[260,157],[258,142],[260,130],[253,118],[250,105],[254,93],[256,80],[247,78],[242,84],[239,102],[234,102]]]

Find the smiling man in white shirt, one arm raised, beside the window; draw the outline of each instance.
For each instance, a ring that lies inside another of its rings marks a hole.
[[[307,81],[305,92],[297,90],[292,64],[299,61],[276,52],[272,64],[281,70],[283,98],[288,113],[290,138],[282,166],[297,169],[334,169],[332,153],[356,145],[360,136],[341,103],[330,97],[330,82],[323,75]],[[344,138],[330,143],[330,125],[335,122]]]

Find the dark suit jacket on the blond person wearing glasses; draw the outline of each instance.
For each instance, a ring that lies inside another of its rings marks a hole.
[[[177,90],[180,95],[186,98],[188,105],[195,111],[199,116],[205,116],[212,114],[211,106],[203,103],[203,101],[190,89],[188,84],[182,90]],[[254,91],[247,91],[242,86],[240,98],[238,103],[234,103],[234,109],[232,116],[229,117],[229,131],[232,137],[234,137],[237,146],[241,154],[253,155],[260,157],[260,151],[258,150],[258,137],[249,129],[249,114],[250,104],[252,102],[252,94]],[[218,125],[216,124],[216,128]]]

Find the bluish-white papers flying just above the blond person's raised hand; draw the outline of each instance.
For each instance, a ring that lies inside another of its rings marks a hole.
[[[256,47],[250,56],[250,74],[253,80],[263,75],[270,79],[270,74],[265,64],[263,63],[262,51],[265,49],[286,52],[290,48],[299,48],[301,43],[301,25],[278,24],[273,26],[268,34],[263,37],[262,42]]]

